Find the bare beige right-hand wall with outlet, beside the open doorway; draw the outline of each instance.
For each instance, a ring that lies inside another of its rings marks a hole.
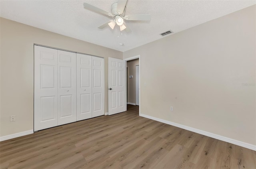
[[[124,52],[140,55],[141,113],[256,145],[255,7]]]

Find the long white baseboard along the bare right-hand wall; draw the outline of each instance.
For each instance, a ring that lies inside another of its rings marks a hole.
[[[189,126],[184,126],[182,124],[170,122],[170,121],[163,120],[163,119],[160,119],[160,118],[148,116],[146,114],[140,114],[140,116],[145,117],[145,118],[149,118],[149,119],[152,119],[152,120],[155,120],[155,121],[158,121],[158,122],[162,122],[162,123],[165,123],[165,124],[169,124],[169,125],[172,125],[172,126],[175,126],[175,127],[178,127],[178,128],[189,130],[191,132],[202,134],[204,136],[215,138],[217,140],[226,141],[228,143],[232,143],[232,144],[239,145],[241,147],[245,147],[245,148],[252,149],[252,150],[256,151],[256,145],[253,145],[253,144],[249,144],[249,143],[245,143],[245,142],[242,142],[242,141],[234,140],[232,138],[227,138],[227,137],[220,136],[220,135],[217,135],[217,134],[213,134],[213,133],[210,133],[210,132],[206,132],[206,131],[203,131],[203,130],[198,130],[196,128],[192,128],[192,127],[189,127]]]

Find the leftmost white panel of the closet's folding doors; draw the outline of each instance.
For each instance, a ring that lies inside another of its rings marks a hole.
[[[34,45],[34,131],[58,124],[57,50]]]

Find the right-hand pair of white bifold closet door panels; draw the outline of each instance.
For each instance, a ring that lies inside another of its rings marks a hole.
[[[104,59],[76,54],[77,120],[104,115]]]

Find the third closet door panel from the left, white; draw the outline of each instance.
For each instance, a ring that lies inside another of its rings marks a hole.
[[[92,118],[92,56],[76,54],[76,119]]]

